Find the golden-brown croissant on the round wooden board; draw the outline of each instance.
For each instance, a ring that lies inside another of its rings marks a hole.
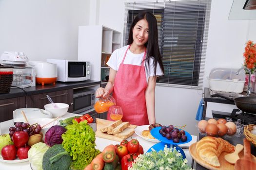
[[[220,137],[206,136],[197,142],[197,153],[199,157],[208,164],[219,167],[218,156],[222,152],[233,153],[235,147]]]

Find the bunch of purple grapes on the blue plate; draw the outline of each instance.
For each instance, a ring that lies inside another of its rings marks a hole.
[[[173,125],[162,126],[161,129],[159,130],[159,133],[169,140],[173,139],[174,143],[178,143],[179,139],[182,142],[185,142],[188,139],[185,131],[179,130],[178,128],[175,128]]]

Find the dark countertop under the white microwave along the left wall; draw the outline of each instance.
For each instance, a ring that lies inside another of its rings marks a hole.
[[[93,80],[86,80],[81,82],[56,82],[55,85],[53,84],[45,84],[45,85],[36,85],[32,87],[26,88],[11,88],[9,93],[2,93],[0,94],[0,100],[2,99],[9,99],[9,98],[16,98],[22,96],[30,96],[40,93],[49,93],[59,90],[66,90],[84,86],[92,86],[92,85],[99,85],[100,81],[93,81]]]

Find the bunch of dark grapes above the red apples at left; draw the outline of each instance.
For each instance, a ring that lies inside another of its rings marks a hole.
[[[32,136],[35,134],[39,134],[41,132],[41,130],[42,130],[42,128],[39,124],[33,124],[30,126],[29,123],[17,122],[17,123],[15,123],[15,127],[12,126],[9,128],[9,131],[10,131],[9,135],[12,138],[12,136],[15,132],[24,131],[24,132],[27,132],[29,136]]]

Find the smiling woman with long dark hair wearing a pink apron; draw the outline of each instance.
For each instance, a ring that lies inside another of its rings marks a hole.
[[[98,88],[96,97],[105,97],[113,91],[117,105],[122,107],[122,121],[146,125],[156,122],[155,87],[164,69],[158,47],[156,17],[140,13],[130,28],[128,45],[114,51],[107,62],[109,81]],[[107,115],[110,119],[110,115]]]

